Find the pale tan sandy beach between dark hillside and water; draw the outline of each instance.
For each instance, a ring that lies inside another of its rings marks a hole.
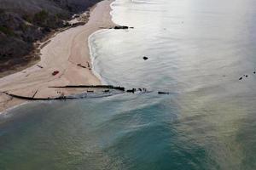
[[[1,78],[0,112],[26,102],[3,92],[35,99],[49,99],[73,93],[65,88],[49,87],[101,84],[91,70],[88,38],[102,27],[115,26],[111,20],[111,3],[112,0],[97,3],[90,9],[90,20],[84,26],[62,31],[50,38],[49,43],[40,51],[41,60],[38,64]]]

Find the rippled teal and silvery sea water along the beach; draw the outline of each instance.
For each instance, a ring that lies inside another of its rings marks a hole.
[[[2,114],[0,169],[256,169],[256,2],[112,7],[115,23],[135,28],[91,36],[94,69],[104,83],[149,93]]]

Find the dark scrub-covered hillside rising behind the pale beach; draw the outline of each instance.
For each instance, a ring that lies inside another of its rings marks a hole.
[[[65,20],[99,1],[0,0],[0,77],[37,60],[34,42],[67,26]]]

